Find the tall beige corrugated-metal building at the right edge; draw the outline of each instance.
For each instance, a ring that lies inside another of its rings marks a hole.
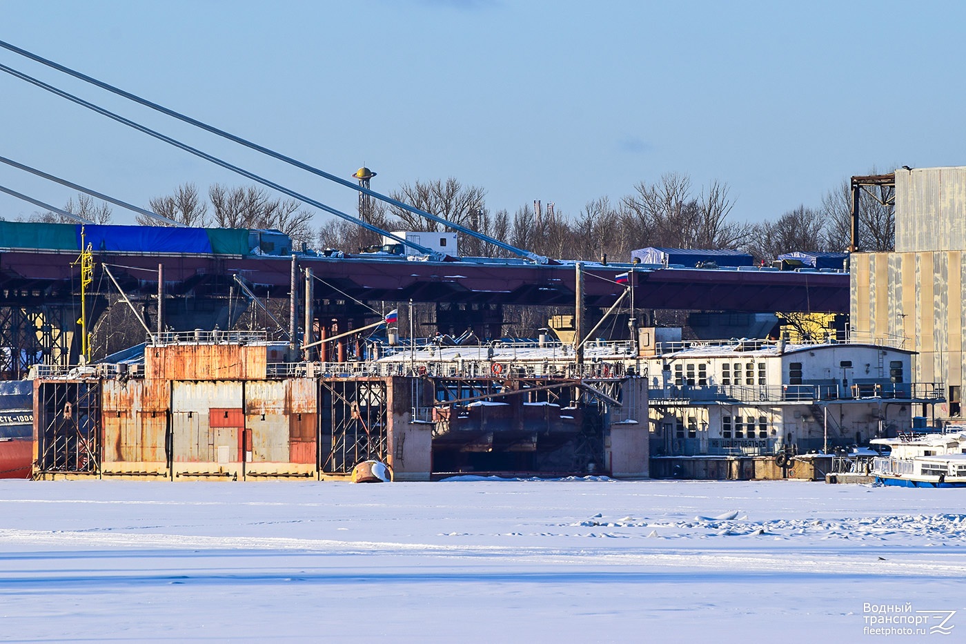
[[[852,334],[913,351],[913,379],[945,383],[935,418],[956,420],[966,371],[966,167],[881,179],[895,185],[895,251],[852,253]]]

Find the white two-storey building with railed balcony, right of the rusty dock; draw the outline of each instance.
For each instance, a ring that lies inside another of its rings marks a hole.
[[[783,340],[659,343],[646,360],[655,456],[829,452],[912,424],[941,388],[909,380],[911,352]]]

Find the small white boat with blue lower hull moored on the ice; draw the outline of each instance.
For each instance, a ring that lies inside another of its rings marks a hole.
[[[878,483],[905,487],[966,487],[966,431],[909,433],[873,438],[874,446],[891,448],[872,459]]]

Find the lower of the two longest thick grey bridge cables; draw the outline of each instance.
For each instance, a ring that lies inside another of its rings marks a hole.
[[[247,179],[251,179],[252,181],[258,182],[258,183],[262,184],[263,186],[268,186],[272,190],[278,190],[279,192],[282,192],[283,194],[287,194],[287,195],[291,196],[294,199],[298,199],[300,201],[304,201],[305,203],[307,203],[309,205],[312,205],[312,206],[315,206],[316,208],[319,208],[320,210],[324,210],[327,213],[331,213],[332,215],[335,215],[336,217],[341,217],[344,220],[352,221],[353,223],[356,223],[356,224],[358,224],[358,225],[360,225],[360,226],[362,226],[362,227],[364,227],[364,228],[366,228],[366,229],[368,229],[368,230],[370,230],[372,232],[379,233],[379,234],[384,235],[385,237],[388,237],[390,239],[393,239],[393,240],[395,240],[395,241],[397,241],[397,242],[399,242],[401,244],[405,244],[406,246],[412,247],[413,249],[416,249],[419,252],[423,252],[423,253],[426,253],[426,254],[429,254],[429,255],[438,255],[439,254],[439,253],[437,253],[434,250],[427,249],[426,247],[423,247],[423,246],[419,246],[415,242],[411,242],[411,241],[408,241],[406,239],[397,237],[396,235],[393,235],[392,233],[390,233],[390,232],[388,232],[386,230],[383,230],[382,228],[379,228],[377,226],[374,226],[374,225],[372,225],[370,223],[366,223],[365,221],[362,221],[362,220],[356,220],[355,217],[353,217],[352,215],[347,215],[347,214],[345,214],[345,213],[343,213],[341,211],[335,210],[334,208],[332,208],[330,206],[327,206],[326,204],[324,204],[324,203],[322,203],[320,201],[316,201],[315,199],[311,199],[311,198],[309,198],[309,197],[307,197],[307,196],[305,196],[303,194],[299,194],[298,192],[296,192],[294,190],[289,190],[289,189],[287,189],[287,188],[285,188],[283,186],[280,186],[280,185],[274,183],[273,181],[270,181],[269,179],[265,179],[264,177],[261,177],[261,176],[259,176],[257,174],[254,174],[253,172],[249,172],[247,170],[244,170],[241,167],[239,167],[238,165],[233,165],[232,163],[229,163],[228,161],[222,161],[221,159],[218,159],[217,157],[213,157],[212,155],[210,155],[210,154],[208,154],[206,152],[202,152],[201,150],[198,150],[197,148],[193,148],[193,147],[191,147],[191,146],[189,146],[189,145],[187,145],[185,143],[182,143],[181,141],[178,141],[177,139],[174,139],[174,138],[172,138],[170,136],[167,136],[166,134],[162,134],[160,132],[156,132],[154,130],[151,130],[150,128],[146,128],[145,126],[139,125],[138,123],[135,123],[134,121],[131,121],[130,119],[127,119],[127,118],[121,116],[120,114],[115,114],[114,112],[109,111],[107,109],[104,109],[103,107],[99,107],[98,105],[94,104],[93,102],[84,101],[83,99],[81,99],[79,97],[76,97],[76,96],[74,96],[74,95],[72,95],[72,94],[70,94],[68,92],[65,92],[64,90],[58,89],[58,88],[54,87],[53,85],[49,85],[49,84],[43,82],[43,80],[39,80],[37,78],[34,78],[33,76],[27,75],[26,73],[17,72],[13,68],[7,67],[6,65],[0,65],[0,72],[9,73],[9,74],[11,74],[13,76],[16,76],[17,78],[20,78],[21,80],[26,80],[28,83],[30,83],[32,85],[36,85],[37,87],[40,87],[41,89],[46,90],[47,92],[50,92],[51,94],[56,94],[57,96],[59,96],[61,98],[67,99],[68,101],[71,101],[71,102],[75,102],[75,103],[77,103],[78,105],[80,105],[82,107],[86,107],[86,108],[88,108],[88,109],[90,109],[92,111],[98,112],[99,114],[101,114],[103,116],[106,116],[109,119],[113,119],[114,121],[117,121],[118,123],[120,123],[122,125],[128,126],[128,128],[133,128],[134,130],[137,130],[138,132],[144,132],[144,133],[146,133],[146,134],[148,134],[150,136],[154,136],[156,139],[158,139],[160,141],[163,141],[165,143],[168,143],[169,145],[173,145],[176,148],[180,148],[182,150],[185,150],[185,152],[189,152],[189,153],[195,155],[196,157],[200,157],[200,158],[204,159],[205,161],[211,161],[211,162],[213,162],[216,165],[220,165],[223,168],[226,168],[228,170],[231,170],[232,172],[236,172],[238,174],[241,174],[242,177],[245,177]],[[17,164],[17,166],[19,166],[19,164]],[[53,181],[58,181],[57,179],[53,179],[52,177],[51,177],[51,179]],[[58,181],[58,183],[61,183],[61,182]],[[99,194],[99,197],[102,198],[102,199],[112,200],[112,199],[110,199],[109,197],[107,197],[105,195],[100,195]],[[132,207],[132,208],[136,208],[136,207]],[[143,211],[143,212],[147,213],[148,211]],[[160,217],[160,216],[157,216],[157,217]],[[178,224],[179,225],[184,225],[184,224],[182,224],[180,222],[178,222]]]

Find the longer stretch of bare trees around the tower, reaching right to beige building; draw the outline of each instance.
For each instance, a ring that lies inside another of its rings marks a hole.
[[[873,170],[874,172],[874,170]],[[554,258],[628,261],[631,251],[647,247],[673,249],[739,249],[756,261],[770,262],[794,250],[843,251],[851,244],[849,181],[829,190],[815,207],[792,208],[776,220],[758,223],[733,218],[734,201],[726,184],[711,182],[695,189],[686,174],[668,173],[654,182],[640,182],[616,201],[602,196],[587,201],[576,213],[526,204],[511,216],[492,212],[486,190],[464,186],[457,179],[403,184],[390,193],[420,210],[439,215],[503,241]],[[863,192],[859,204],[859,240],[864,250],[895,247],[895,212],[890,195]],[[367,220],[384,230],[441,231],[443,226],[392,205],[378,203]],[[323,226],[323,248],[355,251],[378,245],[375,233],[339,220]],[[463,236],[460,254],[500,257],[509,251]]]

